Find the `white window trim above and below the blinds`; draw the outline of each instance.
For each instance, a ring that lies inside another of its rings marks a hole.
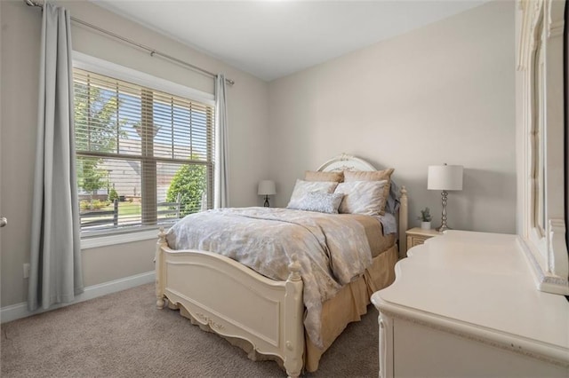
[[[215,97],[212,93],[198,91],[185,85],[173,83],[154,75],[148,75],[107,60],[95,58],[79,51],[73,51],[73,67],[148,87],[152,90],[162,91],[174,96],[188,98],[189,100],[200,102],[206,106],[215,107]],[[90,232],[82,231],[81,248],[97,248],[132,241],[155,239],[157,235],[156,230],[160,227],[160,224],[142,224],[136,230],[132,228],[118,228]]]

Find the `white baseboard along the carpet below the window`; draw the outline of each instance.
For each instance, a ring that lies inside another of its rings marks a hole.
[[[17,303],[10,306],[0,308],[0,323],[12,321],[16,319],[26,318],[28,316],[36,315],[45,311],[52,311],[70,304],[76,304],[88,301],[98,296],[116,293],[117,291],[125,290],[131,287],[137,287],[146,283],[154,282],[154,271],[136,274],[134,276],[125,277],[124,279],[112,280],[99,285],[85,287],[83,294],[77,295],[75,300],[70,303],[55,304],[49,310],[38,309],[36,311],[28,311],[28,303]]]

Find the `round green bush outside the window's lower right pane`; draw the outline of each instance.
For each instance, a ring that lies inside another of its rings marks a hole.
[[[201,207],[202,193],[207,190],[204,165],[183,165],[178,169],[166,193],[167,202],[175,202],[180,193],[180,217],[195,213]]]

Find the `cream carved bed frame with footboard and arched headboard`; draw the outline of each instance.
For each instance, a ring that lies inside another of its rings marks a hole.
[[[376,170],[357,157],[341,154],[318,170]],[[399,250],[405,251],[407,196],[401,188]],[[243,339],[253,350],[282,358],[286,374],[301,374],[304,353],[304,303],[301,265],[293,256],[285,281],[269,280],[218,254],[168,248],[160,231],[156,248],[156,306],[183,307],[212,331]]]

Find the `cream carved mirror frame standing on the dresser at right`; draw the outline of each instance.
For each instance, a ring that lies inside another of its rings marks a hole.
[[[520,234],[539,290],[569,295],[565,240],[565,1],[521,0]]]

